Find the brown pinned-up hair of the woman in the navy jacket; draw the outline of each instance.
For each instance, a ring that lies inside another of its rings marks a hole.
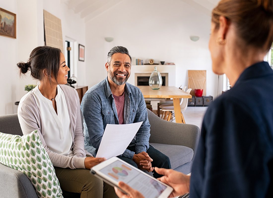
[[[219,28],[224,16],[236,26],[246,45],[268,51],[273,42],[273,0],[221,0],[212,11],[212,22]]]

